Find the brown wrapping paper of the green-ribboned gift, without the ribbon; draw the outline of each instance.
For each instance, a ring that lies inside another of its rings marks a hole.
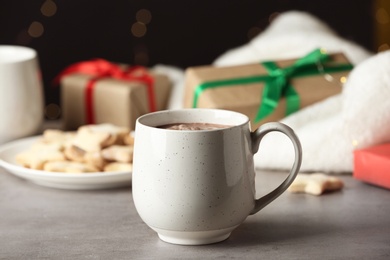
[[[331,60],[336,63],[349,63],[347,58],[341,53],[331,55]],[[275,62],[280,68],[284,68],[292,65],[295,61],[296,59]],[[185,72],[184,107],[192,107],[195,89],[201,83],[267,74],[267,70],[260,63],[228,67],[190,67]],[[300,108],[340,93],[342,90],[342,79],[345,79],[348,74],[349,71],[342,71],[327,75],[318,74],[292,78],[290,82],[300,96]],[[207,89],[200,94],[197,107],[241,112],[251,119],[252,129],[256,129],[263,123],[279,121],[286,116],[286,102],[282,98],[272,114],[259,122],[254,122],[260,106],[263,89],[264,82]]]

